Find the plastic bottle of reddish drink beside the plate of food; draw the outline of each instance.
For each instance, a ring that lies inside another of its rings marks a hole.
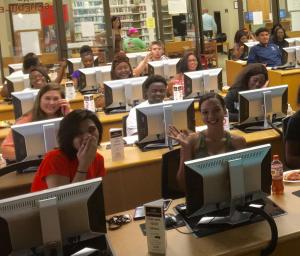
[[[273,155],[273,161],[271,163],[272,174],[272,194],[281,195],[284,191],[283,186],[283,164],[279,160],[278,155]]]

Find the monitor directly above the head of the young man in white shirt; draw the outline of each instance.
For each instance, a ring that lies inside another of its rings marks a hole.
[[[166,79],[173,78],[178,72],[180,58],[148,62],[148,75],[160,75]]]

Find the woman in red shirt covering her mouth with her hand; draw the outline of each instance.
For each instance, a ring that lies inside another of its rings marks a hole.
[[[40,191],[105,175],[104,159],[97,152],[102,125],[89,110],[68,114],[58,130],[58,149],[46,154],[35,174],[31,191]]]

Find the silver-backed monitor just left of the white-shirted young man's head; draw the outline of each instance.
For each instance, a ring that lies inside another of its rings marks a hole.
[[[104,99],[106,112],[129,111],[144,101],[143,83],[146,76],[105,81]]]

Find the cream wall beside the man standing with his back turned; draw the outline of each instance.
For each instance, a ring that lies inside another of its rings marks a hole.
[[[209,10],[209,14],[213,14],[214,11],[219,11],[221,13],[222,32],[227,34],[229,47],[233,47],[234,35],[239,29],[238,9],[234,9],[233,0],[202,0],[201,3],[202,8],[207,8]],[[228,12],[225,12],[226,9]]]

